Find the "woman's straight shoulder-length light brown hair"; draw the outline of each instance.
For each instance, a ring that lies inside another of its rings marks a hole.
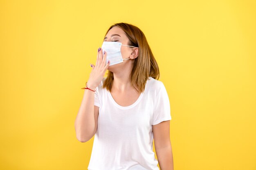
[[[129,39],[127,44],[128,46],[135,46],[139,48],[139,55],[134,59],[134,64],[132,66],[130,82],[132,87],[140,94],[141,92],[144,92],[146,81],[149,77],[158,80],[159,68],[157,61],[155,60],[155,57],[148,45],[148,41],[146,40],[144,33],[137,26],[121,22],[110,26],[108,31],[114,26],[118,26],[126,33],[126,36]],[[103,88],[106,87],[106,89],[111,92],[113,79],[113,72],[108,70],[108,76],[103,82]]]

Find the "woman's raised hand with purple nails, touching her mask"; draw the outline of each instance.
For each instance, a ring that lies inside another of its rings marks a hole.
[[[101,83],[110,61],[106,64],[107,52],[105,54],[102,51],[102,48],[98,49],[96,65],[92,64],[92,72],[90,73],[89,80],[87,82],[88,88],[95,90],[96,87]],[[105,65],[106,64],[106,65]]]

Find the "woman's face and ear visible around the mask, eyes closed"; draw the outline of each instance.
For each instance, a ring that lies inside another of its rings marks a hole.
[[[121,28],[119,28],[118,26],[114,26],[113,28],[111,28],[108,31],[108,33],[103,41],[116,41],[116,42],[122,43],[122,45],[128,45],[129,39],[126,36],[125,32]],[[130,56],[132,56],[131,53],[132,53],[132,47],[121,46],[121,54],[122,54],[123,59],[130,58]],[[108,55],[108,53],[107,53],[107,55]],[[130,63],[129,61],[130,61],[130,59],[124,60],[124,62],[115,64],[115,65],[110,65],[108,68],[117,68],[120,66],[124,66],[124,64]],[[108,69],[108,70],[110,70],[110,69]]]

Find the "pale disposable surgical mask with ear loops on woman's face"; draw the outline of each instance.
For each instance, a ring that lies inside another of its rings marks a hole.
[[[104,51],[107,52],[106,64],[108,63],[108,60],[110,60],[110,65],[114,65],[114,64],[122,63],[124,62],[124,60],[130,59],[130,58],[123,59],[121,54],[121,46],[127,46],[127,45],[123,45],[122,43],[115,42],[115,41],[103,41],[101,49],[102,49],[102,52]],[[135,47],[135,46],[128,46],[128,47]]]

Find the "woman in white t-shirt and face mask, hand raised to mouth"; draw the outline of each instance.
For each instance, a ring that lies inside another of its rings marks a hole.
[[[80,142],[95,135],[88,170],[173,170],[169,98],[144,33],[110,26],[91,66],[75,121]]]

